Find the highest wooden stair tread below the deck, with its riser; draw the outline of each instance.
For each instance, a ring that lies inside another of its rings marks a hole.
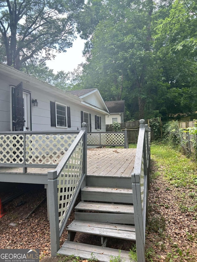
[[[82,201],[133,203],[132,189],[85,186],[81,191]]]

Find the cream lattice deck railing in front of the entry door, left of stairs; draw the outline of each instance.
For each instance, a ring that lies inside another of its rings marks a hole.
[[[57,166],[76,132],[0,132],[0,166]]]

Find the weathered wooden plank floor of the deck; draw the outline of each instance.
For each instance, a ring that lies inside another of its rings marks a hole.
[[[87,150],[87,175],[105,177],[131,177],[135,162],[135,148],[91,148]],[[0,167],[3,174],[47,175],[53,168],[30,168],[23,174],[22,167]],[[9,176],[10,178],[10,176]],[[25,180],[27,183],[27,180]],[[9,182],[9,181],[7,181]],[[19,181],[18,181],[19,182]],[[23,181],[21,181],[23,182]],[[39,182],[38,182],[39,183]]]

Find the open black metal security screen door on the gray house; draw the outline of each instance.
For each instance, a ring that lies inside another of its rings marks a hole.
[[[12,88],[12,131],[23,131],[24,109],[22,82]]]

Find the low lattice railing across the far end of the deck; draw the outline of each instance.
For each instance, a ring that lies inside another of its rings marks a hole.
[[[127,129],[120,132],[88,132],[87,145],[128,148]]]

